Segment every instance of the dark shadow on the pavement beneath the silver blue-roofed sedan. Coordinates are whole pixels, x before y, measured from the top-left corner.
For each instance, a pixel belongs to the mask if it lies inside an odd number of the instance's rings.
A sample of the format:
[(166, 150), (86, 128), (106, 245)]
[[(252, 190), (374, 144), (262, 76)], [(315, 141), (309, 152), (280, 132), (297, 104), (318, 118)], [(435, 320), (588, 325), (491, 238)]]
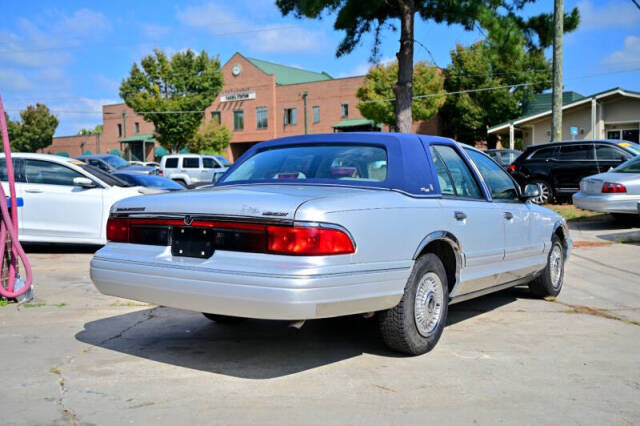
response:
[[(516, 300), (497, 293), (452, 305), (448, 325)], [(446, 332), (446, 331), (445, 331)], [(361, 316), (307, 321), (246, 320), (217, 324), (199, 313), (167, 307), (88, 322), (76, 339), (90, 345), (179, 367), (247, 379), (286, 376), (359, 356), (400, 357), (380, 338), (377, 321)]]

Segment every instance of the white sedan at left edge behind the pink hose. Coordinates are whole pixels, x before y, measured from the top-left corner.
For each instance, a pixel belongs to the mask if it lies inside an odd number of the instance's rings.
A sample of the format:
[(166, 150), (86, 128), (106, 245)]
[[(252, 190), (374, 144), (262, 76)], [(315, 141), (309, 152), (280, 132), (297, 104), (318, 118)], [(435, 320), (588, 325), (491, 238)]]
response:
[[(113, 203), (148, 192), (67, 157), (15, 153), (12, 159), (16, 193), (24, 199), (18, 210), (20, 241), (104, 244)], [(0, 180), (8, 193), (4, 154)]]

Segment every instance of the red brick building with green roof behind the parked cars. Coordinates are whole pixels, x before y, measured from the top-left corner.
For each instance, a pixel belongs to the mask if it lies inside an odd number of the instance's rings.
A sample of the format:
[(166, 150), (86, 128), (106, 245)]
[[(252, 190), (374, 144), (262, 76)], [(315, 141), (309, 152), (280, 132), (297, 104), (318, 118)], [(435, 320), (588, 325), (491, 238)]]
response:
[[(238, 158), (252, 145), (281, 136), (334, 131), (378, 130), (357, 109), (356, 90), (364, 76), (333, 78), (274, 64), (235, 53), (222, 66), (224, 87), (205, 110), (205, 120), (219, 120), (233, 131), (227, 158)], [(154, 126), (124, 103), (102, 107), (104, 133), (97, 144), (85, 147), (92, 152), (122, 152), (128, 159), (150, 161), (158, 154), (153, 139)], [(438, 134), (437, 116), (414, 125), (417, 133)], [(63, 140), (54, 138), (47, 152), (61, 151)], [(97, 141), (96, 141), (97, 142)], [(78, 145), (79, 140), (73, 140)], [(66, 148), (70, 155), (75, 149)], [(79, 152), (78, 152), (79, 154)]]

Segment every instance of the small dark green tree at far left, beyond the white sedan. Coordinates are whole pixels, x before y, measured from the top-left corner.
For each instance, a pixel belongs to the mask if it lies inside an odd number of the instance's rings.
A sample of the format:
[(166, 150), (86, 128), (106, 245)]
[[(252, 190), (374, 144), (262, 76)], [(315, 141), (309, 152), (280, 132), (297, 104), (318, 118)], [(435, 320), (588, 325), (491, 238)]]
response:
[(36, 152), (53, 142), (58, 119), (44, 104), (29, 105), (20, 111), (20, 121), (9, 120), (7, 130), (11, 149), (18, 152)]

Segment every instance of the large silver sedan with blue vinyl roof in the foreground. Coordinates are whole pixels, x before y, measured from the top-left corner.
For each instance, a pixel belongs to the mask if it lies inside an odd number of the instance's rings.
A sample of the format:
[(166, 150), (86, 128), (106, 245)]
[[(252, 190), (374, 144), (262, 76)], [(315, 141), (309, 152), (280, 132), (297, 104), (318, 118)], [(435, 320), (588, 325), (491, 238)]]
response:
[(518, 284), (560, 292), (571, 239), (527, 202), (537, 195), (451, 139), (276, 139), (215, 187), (117, 203), (91, 277), (104, 294), (219, 322), (377, 312), (389, 347), (420, 354), (450, 303)]

